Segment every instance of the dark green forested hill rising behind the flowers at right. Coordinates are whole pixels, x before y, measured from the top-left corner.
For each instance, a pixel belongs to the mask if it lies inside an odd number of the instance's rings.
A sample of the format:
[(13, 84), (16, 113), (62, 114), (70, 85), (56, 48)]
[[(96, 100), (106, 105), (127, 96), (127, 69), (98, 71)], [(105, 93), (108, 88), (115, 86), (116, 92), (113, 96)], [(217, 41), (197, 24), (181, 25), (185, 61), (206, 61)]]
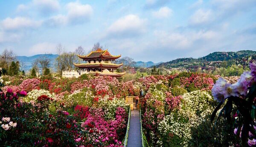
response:
[(228, 68), (232, 65), (245, 68), (250, 61), (256, 61), (256, 51), (242, 50), (239, 52), (213, 52), (202, 58), (178, 58), (173, 61), (161, 63), (157, 67), (166, 69), (182, 68), (192, 71), (215, 70), (217, 68)]

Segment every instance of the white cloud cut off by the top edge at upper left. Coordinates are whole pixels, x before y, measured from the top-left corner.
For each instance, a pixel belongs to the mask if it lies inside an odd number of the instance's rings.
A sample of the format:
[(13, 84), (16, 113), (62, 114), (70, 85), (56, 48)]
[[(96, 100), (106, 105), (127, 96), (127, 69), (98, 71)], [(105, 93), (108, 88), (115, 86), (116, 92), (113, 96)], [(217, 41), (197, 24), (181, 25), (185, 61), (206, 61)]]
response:
[(32, 5), (36, 6), (43, 14), (56, 12), (61, 7), (58, 0), (33, 0)]

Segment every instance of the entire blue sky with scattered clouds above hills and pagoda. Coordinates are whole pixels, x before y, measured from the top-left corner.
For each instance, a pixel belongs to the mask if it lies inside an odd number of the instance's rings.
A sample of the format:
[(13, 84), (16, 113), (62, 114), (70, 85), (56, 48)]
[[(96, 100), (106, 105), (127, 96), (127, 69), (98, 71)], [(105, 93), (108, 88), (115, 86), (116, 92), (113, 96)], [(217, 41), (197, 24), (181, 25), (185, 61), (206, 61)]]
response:
[(1, 0), (0, 52), (55, 53), (100, 42), (135, 61), (256, 50), (256, 0)]

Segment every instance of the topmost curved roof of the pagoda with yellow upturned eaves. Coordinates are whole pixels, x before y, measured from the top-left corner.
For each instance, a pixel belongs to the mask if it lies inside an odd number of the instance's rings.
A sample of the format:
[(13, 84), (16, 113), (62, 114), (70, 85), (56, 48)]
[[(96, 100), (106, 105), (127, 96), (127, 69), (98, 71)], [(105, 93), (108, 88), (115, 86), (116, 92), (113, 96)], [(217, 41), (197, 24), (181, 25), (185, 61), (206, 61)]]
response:
[(87, 60), (93, 60), (93, 59), (111, 59), (111, 60), (115, 60), (119, 57), (121, 57), (121, 55), (111, 55), (108, 50), (102, 50), (102, 49), (98, 49), (97, 51), (92, 51), (90, 52), (88, 55), (82, 56), (82, 55), (78, 55), (79, 58), (84, 59), (84, 61)]

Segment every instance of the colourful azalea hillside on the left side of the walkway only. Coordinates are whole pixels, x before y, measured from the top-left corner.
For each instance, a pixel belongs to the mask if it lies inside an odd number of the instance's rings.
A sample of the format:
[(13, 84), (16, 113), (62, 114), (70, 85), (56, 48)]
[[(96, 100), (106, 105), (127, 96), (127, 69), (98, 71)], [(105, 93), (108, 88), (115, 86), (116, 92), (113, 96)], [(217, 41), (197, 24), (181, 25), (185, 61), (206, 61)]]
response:
[(122, 147), (129, 86), (112, 77), (2, 76), (0, 146)]

